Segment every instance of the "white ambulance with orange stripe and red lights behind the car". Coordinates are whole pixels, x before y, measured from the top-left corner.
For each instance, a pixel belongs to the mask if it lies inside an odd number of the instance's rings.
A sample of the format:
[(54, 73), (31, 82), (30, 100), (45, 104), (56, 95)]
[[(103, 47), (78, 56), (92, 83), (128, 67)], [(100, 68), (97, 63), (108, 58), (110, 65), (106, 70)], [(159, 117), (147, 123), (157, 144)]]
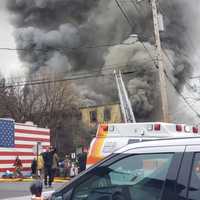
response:
[(86, 167), (104, 159), (127, 144), (162, 138), (200, 136), (196, 126), (163, 122), (100, 124), (93, 138)]

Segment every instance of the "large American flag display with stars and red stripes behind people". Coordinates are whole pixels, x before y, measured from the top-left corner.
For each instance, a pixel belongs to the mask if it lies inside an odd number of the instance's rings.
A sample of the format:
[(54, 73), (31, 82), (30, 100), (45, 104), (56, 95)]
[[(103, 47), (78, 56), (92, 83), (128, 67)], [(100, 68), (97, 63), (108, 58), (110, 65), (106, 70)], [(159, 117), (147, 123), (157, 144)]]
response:
[(14, 171), (16, 156), (22, 161), (23, 171), (29, 172), (36, 157), (34, 149), (37, 143), (41, 143), (43, 150), (50, 146), (49, 129), (0, 119), (0, 173)]

